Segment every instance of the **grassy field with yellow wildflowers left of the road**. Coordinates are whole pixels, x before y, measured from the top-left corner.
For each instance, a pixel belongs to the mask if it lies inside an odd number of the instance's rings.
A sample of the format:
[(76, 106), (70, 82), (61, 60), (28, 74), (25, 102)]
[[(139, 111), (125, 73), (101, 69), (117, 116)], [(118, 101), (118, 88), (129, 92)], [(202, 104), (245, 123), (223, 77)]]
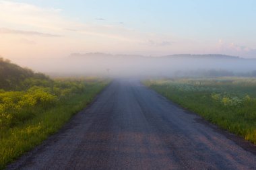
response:
[(26, 79), (21, 90), (0, 90), (0, 169), (57, 132), (108, 82)]

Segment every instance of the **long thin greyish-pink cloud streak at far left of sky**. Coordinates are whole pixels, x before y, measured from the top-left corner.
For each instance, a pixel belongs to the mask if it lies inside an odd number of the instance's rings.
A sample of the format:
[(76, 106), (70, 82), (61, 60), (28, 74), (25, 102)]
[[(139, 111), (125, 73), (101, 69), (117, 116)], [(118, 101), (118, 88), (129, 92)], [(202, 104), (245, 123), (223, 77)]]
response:
[(0, 34), (21, 34), (26, 36), (60, 37), (60, 35), (57, 35), (57, 34), (46, 34), (42, 32), (23, 31), (23, 30), (11, 30), (8, 28), (0, 28)]

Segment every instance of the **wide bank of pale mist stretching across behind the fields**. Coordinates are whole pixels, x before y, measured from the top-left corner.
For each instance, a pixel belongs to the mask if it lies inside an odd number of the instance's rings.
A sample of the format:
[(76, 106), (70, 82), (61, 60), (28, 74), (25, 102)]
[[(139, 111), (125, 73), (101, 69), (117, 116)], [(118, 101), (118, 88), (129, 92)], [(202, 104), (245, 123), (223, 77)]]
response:
[(256, 59), (254, 58), (241, 58), (221, 54), (139, 56), (104, 53), (73, 53), (65, 58), (22, 60), (20, 64), (52, 76), (255, 76), (256, 70)]

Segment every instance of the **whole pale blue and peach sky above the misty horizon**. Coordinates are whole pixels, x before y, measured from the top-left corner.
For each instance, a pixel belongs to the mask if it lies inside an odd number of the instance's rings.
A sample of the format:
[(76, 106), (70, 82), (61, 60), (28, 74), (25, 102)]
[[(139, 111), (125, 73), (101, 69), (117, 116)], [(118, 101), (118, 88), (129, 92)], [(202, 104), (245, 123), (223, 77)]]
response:
[(0, 55), (228, 54), (256, 58), (255, 0), (0, 0)]

